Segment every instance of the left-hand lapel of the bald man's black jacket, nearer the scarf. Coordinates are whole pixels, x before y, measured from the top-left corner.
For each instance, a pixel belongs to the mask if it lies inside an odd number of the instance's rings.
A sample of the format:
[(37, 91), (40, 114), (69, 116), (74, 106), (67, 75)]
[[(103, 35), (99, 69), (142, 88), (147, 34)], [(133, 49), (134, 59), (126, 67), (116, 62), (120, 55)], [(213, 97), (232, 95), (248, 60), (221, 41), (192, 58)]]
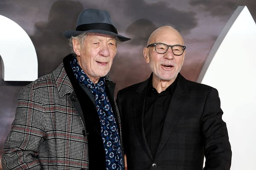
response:
[(149, 158), (153, 160), (152, 153), (146, 140), (145, 131), (143, 127), (143, 115), (145, 106), (145, 96), (147, 92), (148, 79), (143, 82), (136, 90), (137, 96), (134, 97), (133, 108), (134, 108), (134, 126), (137, 133), (137, 137), (140, 141), (141, 146), (148, 154)]

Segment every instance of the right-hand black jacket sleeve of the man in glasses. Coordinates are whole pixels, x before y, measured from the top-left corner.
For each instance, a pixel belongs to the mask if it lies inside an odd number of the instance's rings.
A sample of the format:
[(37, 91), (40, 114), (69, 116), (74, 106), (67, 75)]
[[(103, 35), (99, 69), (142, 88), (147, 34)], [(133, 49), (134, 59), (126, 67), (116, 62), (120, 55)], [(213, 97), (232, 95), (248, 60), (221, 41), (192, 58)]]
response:
[(222, 114), (218, 91), (212, 88), (201, 118), (206, 158), (204, 170), (230, 170), (232, 152)]

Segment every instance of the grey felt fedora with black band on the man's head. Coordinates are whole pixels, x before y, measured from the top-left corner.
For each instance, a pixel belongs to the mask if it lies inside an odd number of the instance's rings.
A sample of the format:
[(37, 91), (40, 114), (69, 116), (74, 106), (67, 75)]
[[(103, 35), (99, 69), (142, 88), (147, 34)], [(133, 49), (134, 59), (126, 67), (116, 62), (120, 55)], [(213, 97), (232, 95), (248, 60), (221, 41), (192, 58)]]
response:
[(130, 38), (119, 35), (108, 11), (102, 11), (100, 9), (90, 8), (83, 10), (78, 16), (76, 30), (64, 31), (63, 35), (66, 38), (70, 38), (71, 36), (76, 36), (84, 32), (113, 35), (118, 37), (120, 41), (131, 40)]

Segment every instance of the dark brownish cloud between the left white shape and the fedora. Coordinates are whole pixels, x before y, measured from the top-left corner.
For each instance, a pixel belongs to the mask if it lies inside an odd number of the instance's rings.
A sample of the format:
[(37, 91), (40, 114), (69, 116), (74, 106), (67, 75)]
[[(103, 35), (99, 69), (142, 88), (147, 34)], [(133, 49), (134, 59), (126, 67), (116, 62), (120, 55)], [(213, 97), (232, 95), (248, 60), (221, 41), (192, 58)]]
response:
[(58, 0), (53, 3), (48, 21), (35, 23), (35, 34), (30, 36), (38, 56), (38, 75), (53, 71), (70, 53), (68, 40), (63, 31), (74, 30), (83, 6), (80, 2)]

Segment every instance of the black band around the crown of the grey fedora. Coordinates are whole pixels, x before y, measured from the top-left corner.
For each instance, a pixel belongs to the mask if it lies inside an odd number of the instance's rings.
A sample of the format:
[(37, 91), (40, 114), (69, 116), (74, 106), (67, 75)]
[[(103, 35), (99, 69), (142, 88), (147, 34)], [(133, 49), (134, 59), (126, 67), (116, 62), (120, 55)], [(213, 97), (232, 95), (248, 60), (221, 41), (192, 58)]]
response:
[(111, 31), (111, 32), (117, 34), (116, 28), (113, 25), (107, 24), (107, 23), (82, 24), (82, 25), (76, 27), (76, 31), (89, 31), (89, 30), (94, 30), (94, 29)]

